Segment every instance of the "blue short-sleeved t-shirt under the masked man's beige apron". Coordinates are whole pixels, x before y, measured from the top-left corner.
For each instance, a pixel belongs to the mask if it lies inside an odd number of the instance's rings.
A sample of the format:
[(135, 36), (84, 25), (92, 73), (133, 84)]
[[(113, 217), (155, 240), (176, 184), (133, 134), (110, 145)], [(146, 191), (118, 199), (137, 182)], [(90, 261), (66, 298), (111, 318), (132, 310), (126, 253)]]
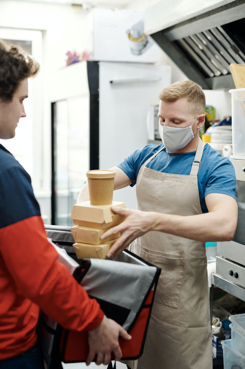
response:
[[(143, 149), (134, 151), (118, 165), (118, 168), (122, 169), (131, 180), (131, 186), (136, 184), (137, 175), (143, 163), (162, 147), (162, 143), (160, 145), (146, 145)], [(147, 168), (164, 173), (190, 175), (195, 153), (192, 151), (179, 154), (163, 149), (147, 164)], [(197, 182), (203, 213), (208, 212), (205, 196), (209, 193), (223, 193), (236, 200), (235, 169), (228, 158), (222, 157), (208, 144), (204, 145)]]

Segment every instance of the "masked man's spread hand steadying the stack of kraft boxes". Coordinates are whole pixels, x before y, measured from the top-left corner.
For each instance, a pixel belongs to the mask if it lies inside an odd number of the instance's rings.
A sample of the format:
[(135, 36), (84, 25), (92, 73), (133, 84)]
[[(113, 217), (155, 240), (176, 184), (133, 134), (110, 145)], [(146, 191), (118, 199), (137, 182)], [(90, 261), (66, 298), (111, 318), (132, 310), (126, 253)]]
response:
[(156, 213), (135, 209), (124, 209), (119, 206), (112, 206), (111, 210), (113, 213), (124, 215), (125, 220), (115, 227), (110, 228), (101, 236), (101, 239), (104, 239), (116, 234), (117, 232), (120, 232), (121, 234), (115, 244), (113, 244), (109, 249), (107, 253), (108, 258), (115, 257), (120, 254), (120, 252), (125, 250), (134, 239), (152, 230), (156, 223)]

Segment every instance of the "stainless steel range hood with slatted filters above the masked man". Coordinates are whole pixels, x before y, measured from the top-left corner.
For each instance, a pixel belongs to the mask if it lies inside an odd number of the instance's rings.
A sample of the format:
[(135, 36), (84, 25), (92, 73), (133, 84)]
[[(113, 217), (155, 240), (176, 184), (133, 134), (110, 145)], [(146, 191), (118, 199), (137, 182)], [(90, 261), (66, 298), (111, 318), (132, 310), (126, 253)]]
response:
[(245, 64), (245, 0), (160, 1), (145, 33), (204, 89), (235, 88), (229, 64)]

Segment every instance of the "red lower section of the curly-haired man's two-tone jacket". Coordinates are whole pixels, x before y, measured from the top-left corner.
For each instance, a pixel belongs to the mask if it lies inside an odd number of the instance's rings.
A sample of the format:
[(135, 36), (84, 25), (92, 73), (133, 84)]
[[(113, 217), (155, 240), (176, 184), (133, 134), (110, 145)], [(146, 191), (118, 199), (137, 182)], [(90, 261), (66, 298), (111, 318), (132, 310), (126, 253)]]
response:
[(37, 341), (39, 307), (65, 328), (93, 330), (103, 312), (57, 261), (41, 217), (0, 229), (0, 360)]

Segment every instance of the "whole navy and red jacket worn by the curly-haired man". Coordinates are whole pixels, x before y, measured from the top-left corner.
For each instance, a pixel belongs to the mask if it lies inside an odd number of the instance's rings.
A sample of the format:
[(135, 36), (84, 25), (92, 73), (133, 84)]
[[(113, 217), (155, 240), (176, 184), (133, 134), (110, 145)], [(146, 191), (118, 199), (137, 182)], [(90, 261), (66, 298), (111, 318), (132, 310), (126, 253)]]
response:
[(0, 144), (0, 361), (35, 344), (39, 308), (73, 330), (101, 323), (97, 301), (57, 258), (30, 176)]

